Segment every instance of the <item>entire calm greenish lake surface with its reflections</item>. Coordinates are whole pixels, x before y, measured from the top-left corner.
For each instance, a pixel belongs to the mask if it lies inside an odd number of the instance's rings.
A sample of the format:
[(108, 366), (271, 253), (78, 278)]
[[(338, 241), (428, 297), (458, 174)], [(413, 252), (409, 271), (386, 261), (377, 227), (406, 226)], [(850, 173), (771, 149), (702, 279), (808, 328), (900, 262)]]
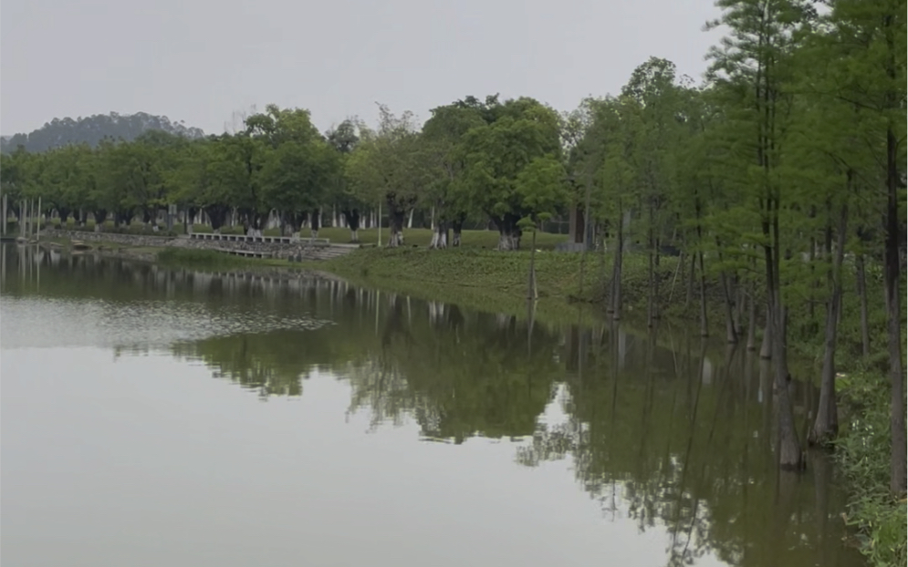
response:
[(861, 565), (724, 345), (2, 253), (5, 566)]

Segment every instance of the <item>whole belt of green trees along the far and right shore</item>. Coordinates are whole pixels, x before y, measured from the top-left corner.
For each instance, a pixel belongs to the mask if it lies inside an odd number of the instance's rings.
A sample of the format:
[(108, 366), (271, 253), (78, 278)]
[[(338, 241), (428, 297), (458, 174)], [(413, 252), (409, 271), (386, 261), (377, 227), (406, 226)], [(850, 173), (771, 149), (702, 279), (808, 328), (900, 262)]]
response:
[[(611, 251), (609, 311), (621, 314), (624, 252), (647, 258), (647, 317), (660, 315), (660, 254), (682, 253), (704, 288), (715, 274), (729, 342), (757, 336), (772, 359), (779, 459), (803, 451), (788, 390), (793, 309), (825, 320), (821, 397), (809, 441), (838, 430), (835, 353), (845, 270), (858, 273), (865, 354), (867, 294), (882, 268), (892, 389), (892, 490), (905, 491), (902, 360), (905, 242), (904, 0), (719, 0), (707, 29), (727, 30), (706, 55), (702, 84), (651, 58), (615, 96), (558, 112), (534, 98), (465, 97), (422, 125), (381, 106), (371, 127), (348, 119), (324, 134), (307, 110), (269, 106), (235, 133), (187, 139), (150, 131), (2, 157), (13, 211), (41, 198), (44, 213), (85, 222), (157, 219), (176, 205), (219, 230), (261, 232), (277, 213), (283, 233), (319, 211), (341, 211), (357, 240), (365, 211), (381, 210), (389, 246), (412, 211), (433, 220), (432, 248), (456, 246), (467, 219), (485, 219), (500, 250), (568, 207), (583, 211), (584, 240)], [(451, 237), (453, 232), (453, 238)], [(689, 264), (688, 264), (689, 263)], [(746, 321), (746, 326), (745, 326)], [(757, 345), (748, 345), (757, 348)]]

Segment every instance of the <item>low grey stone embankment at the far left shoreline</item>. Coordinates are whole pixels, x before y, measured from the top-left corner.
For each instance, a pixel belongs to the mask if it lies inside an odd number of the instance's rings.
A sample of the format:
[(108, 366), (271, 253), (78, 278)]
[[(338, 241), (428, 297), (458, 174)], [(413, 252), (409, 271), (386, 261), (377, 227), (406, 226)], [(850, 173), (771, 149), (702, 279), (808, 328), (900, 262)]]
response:
[[(325, 239), (254, 239), (251, 237), (236, 237), (235, 240), (208, 240), (203, 238), (190, 238), (189, 236), (153, 236), (149, 234), (118, 234), (113, 232), (82, 232), (47, 230), (42, 236), (48, 238), (61, 238), (70, 241), (82, 242), (111, 242), (134, 248), (193, 248), (197, 250), (214, 250), (222, 253), (235, 253), (239, 255), (280, 258), (291, 262), (311, 260), (329, 260), (351, 253), (359, 245), (334, 244)], [(270, 240), (271, 242), (259, 242)]]

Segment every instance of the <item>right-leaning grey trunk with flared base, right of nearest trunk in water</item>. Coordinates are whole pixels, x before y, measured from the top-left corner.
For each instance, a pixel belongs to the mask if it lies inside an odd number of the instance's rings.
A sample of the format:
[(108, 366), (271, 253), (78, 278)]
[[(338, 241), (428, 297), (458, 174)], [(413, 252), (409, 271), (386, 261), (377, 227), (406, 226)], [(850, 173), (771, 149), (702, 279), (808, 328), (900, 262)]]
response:
[(817, 419), (808, 435), (810, 445), (825, 445), (839, 434), (839, 409), (836, 407), (836, 338), (839, 331), (841, 309), (841, 262), (845, 254), (848, 228), (848, 206), (842, 205), (839, 234), (836, 238), (835, 259), (828, 278), (832, 293), (826, 309), (826, 341), (823, 352), (823, 369), (820, 375), (819, 406)]

